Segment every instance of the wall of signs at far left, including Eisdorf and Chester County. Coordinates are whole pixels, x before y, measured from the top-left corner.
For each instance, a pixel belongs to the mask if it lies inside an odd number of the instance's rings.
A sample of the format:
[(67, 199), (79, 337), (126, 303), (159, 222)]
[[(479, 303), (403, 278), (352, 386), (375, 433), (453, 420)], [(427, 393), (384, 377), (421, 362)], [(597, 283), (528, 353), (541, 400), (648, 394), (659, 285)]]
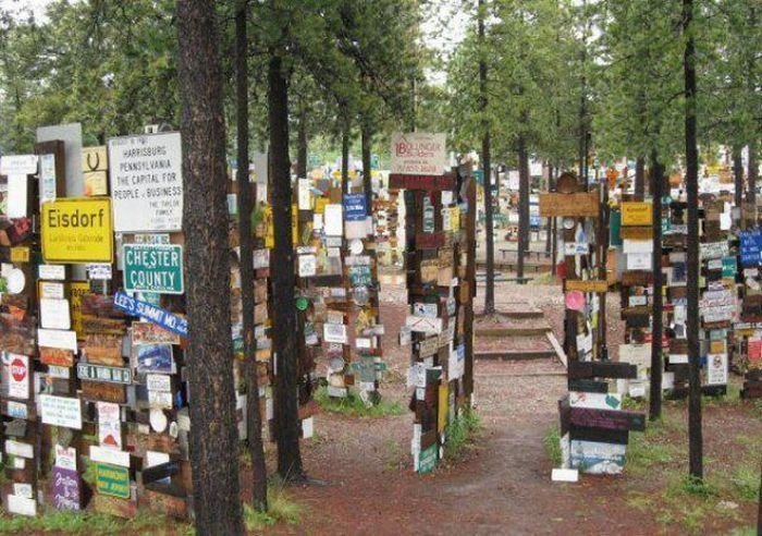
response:
[(184, 517), (187, 322), (172, 300), (184, 292), (180, 134), (84, 149), (77, 198), (64, 195), (66, 151), (53, 142), (0, 159), (1, 413), (13, 483), (2, 499), (27, 515), (91, 500), (123, 516), (143, 501)]

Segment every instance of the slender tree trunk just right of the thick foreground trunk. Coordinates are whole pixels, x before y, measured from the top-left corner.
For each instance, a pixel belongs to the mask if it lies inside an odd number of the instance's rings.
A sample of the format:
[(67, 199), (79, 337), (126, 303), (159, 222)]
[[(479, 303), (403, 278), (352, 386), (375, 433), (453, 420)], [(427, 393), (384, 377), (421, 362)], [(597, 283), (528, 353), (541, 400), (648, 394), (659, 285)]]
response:
[(248, 179), (248, 35), (246, 32), (246, 2), (235, 14), (235, 72), (237, 101), (238, 148), (238, 235), (241, 237), (241, 305), (243, 310), (244, 375), (246, 377), (246, 436), (254, 477), (254, 508), (267, 511), (267, 467), (262, 446), (262, 419), (259, 413), (256, 341), (254, 338), (254, 244), (251, 210), (254, 199)]

